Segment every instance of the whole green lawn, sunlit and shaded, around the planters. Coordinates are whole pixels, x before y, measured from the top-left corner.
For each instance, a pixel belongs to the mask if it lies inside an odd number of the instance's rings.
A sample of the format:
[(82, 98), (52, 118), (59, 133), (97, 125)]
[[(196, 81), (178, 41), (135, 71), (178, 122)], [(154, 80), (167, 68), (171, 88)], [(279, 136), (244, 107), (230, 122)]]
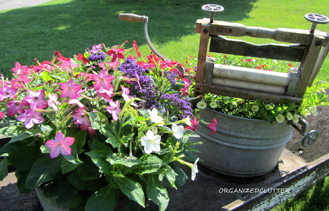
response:
[[(200, 9), (204, 4), (225, 7), (215, 20), (268, 28), (309, 29), (311, 24), (304, 20), (304, 14), (329, 16), (327, 0), (53, 0), (41, 6), (0, 11), (0, 73), (10, 77), (16, 61), (32, 65), (33, 58), (50, 60), (55, 49), (72, 57), (99, 43), (112, 46), (136, 40), (141, 52), (149, 54), (143, 24), (119, 20), (122, 12), (149, 16), (154, 46), (164, 56), (185, 62), (189, 55), (197, 55), (199, 34), (195, 33), (195, 21), (208, 17)], [(329, 32), (329, 24), (318, 25), (317, 29)], [(318, 79), (329, 81), (329, 57)], [(329, 210), (328, 195), (327, 177), (275, 210)]]

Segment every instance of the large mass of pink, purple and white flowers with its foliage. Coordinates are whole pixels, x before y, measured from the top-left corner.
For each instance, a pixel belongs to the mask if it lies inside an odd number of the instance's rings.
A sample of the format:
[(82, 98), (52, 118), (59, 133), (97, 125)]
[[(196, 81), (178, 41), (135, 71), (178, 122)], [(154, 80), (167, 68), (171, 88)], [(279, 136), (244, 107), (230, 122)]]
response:
[(55, 51), (2, 77), (0, 134), (11, 140), (0, 148), (1, 180), (13, 165), (20, 192), (36, 189), (45, 207), (50, 198), (56, 209), (85, 210), (113, 210), (119, 194), (129, 206), (151, 199), (164, 210), (163, 185), (188, 178), (177, 164), (194, 180), (198, 158), (187, 140), (198, 135), (181, 64), (152, 53), (145, 60), (135, 41), (125, 44), (72, 58)]

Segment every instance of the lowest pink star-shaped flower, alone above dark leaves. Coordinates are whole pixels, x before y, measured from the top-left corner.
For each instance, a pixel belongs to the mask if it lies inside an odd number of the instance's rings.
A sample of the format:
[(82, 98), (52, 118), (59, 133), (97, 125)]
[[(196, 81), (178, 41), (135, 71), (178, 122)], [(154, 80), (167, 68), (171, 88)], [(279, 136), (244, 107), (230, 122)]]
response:
[(45, 145), (50, 149), (50, 158), (57, 157), (60, 153), (62, 155), (71, 154), (71, 146), (75, 141), (74, 137), (64, 137), (61, 131), (58, 131), (54, 139), (47, 140)]

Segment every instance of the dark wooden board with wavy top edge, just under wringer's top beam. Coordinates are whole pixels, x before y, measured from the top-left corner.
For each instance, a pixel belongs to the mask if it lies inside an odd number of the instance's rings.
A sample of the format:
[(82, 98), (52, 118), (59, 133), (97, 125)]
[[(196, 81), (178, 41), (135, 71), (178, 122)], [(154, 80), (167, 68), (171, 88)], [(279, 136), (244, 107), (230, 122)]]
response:
[(301, 62), (305, 54), (305, 45), (264, 44), (257, 45), (243, 40), (211, 37), (211, 52), (250, 56), (266, 59), (278, 59)]

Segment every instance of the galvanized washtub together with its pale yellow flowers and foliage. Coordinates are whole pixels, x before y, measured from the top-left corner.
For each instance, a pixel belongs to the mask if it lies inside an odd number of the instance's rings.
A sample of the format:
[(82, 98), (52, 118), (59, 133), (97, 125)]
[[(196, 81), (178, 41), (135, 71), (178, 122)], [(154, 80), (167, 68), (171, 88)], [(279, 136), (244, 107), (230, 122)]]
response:
[[(287, 72), (293, 66), (269, 59), (221, 54), (209, 56), (216, 59), (215, 63), (260, 71)], [(191, 57), (188, 65), (193, 75), (196, 59)], [(206, 121), (215, 117), (218, 124), (213, 136), (207, 134), (209, 129), (203, 124), (193, 128), (202, 137), (203, 145), (196, 146), (202, 152), (198, 156), (205, 161), (202, 165), (235, 177), (254, 177), (269, 172), (277, 166), (293, 133), (291, 125), (297, 124), (303, 116), (317, 115), (318, 106), (329, 105), (325, 94), (328, 88), (328, 83), (316, 81), (306, 90), (300, 106), (293, 102), (273, 104), (204, 93), (196, 104), (200, 109), (198, 115)], [(192, 143), (198, 140), (190, 139)]]

